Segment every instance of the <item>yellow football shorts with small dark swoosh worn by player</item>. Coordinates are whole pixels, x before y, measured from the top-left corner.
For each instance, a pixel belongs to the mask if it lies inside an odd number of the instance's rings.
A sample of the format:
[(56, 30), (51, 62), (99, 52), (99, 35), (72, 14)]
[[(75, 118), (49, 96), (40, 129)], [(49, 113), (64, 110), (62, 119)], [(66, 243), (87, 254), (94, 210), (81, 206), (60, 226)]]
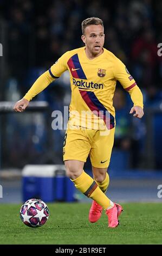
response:
[(115, 127), (107, 132), (90, 130), (81, 126), (71, 126), (64, 136), (63, 161), (87, 161), (88, 155), (93, 167), (107, 168), (114, 144)]

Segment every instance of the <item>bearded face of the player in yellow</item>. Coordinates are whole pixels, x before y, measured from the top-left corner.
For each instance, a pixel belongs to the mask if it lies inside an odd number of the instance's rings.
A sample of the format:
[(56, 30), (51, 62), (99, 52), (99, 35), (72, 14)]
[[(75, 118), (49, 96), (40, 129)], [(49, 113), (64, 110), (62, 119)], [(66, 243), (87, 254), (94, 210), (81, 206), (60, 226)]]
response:
[(86, 44), (86, 50), (92, 56), (99, 56), (103, 52), (103, 44), (105, 34), (101, 25), (89, 25), (85, 28), (85, 35), (82, 35), (82, 40)]

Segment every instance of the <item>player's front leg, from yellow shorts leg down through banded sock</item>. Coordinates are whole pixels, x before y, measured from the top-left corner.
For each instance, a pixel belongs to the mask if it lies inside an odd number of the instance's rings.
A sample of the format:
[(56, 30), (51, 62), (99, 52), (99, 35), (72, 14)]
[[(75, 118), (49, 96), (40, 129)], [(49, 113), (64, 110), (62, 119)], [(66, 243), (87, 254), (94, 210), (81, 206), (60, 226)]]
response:
[[(64, 141), (63, 160), (67, 169), (67, 174), (74, 182), (75, 187), (85, 194), (85, 196), (95, 200), (103, 209), (109, 210), (113, 208), (114, 204), (100, 190), (94, 179), (82, 169), (83, 162), (86, 162), (92, 145), (91, 138), (94, 137), (95, 133), (95, 130), (68, 130)], [(109, 227), (114, 228), (117, 225), (118, 219), (112, 218)]]

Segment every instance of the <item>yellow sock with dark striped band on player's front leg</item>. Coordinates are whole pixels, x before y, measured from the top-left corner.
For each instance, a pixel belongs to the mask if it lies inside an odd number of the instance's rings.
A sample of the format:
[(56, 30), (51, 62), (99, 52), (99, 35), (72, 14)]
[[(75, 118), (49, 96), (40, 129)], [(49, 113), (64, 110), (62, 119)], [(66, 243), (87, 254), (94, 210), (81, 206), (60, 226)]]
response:
[(82, 174), (75, 180), (72, 180), (75, 187), (80, 190), (85, 196), (92, 198), (103, 209), (107, 209), (110, 204), (110, 199), (100, 190), (96, 182), (83, 170)]

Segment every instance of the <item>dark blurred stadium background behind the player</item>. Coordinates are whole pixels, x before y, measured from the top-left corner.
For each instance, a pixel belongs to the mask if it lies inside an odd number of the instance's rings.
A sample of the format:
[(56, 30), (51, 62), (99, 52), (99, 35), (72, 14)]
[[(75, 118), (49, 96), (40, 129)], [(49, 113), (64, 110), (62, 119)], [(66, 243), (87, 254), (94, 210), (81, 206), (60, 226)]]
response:
[[(83, 46), (81, 22), (100, 17), (105, 48), (124, 62), (144, 95), (142, 120), (129, 115), (129, 94), (116, 86), (116, 133), (109, 197), (161, 202), (162, 184), (162, 2), (0, 0), (0, 203), (21, 203), (27, 164), (63, 164), (64, 130), (53, 130), (51, 113), (70, 102), (68, 72), (37, 95), (24, 113), (12, 107), (36, 78), (66, 51)], [(89, 160), (85, 170), (91, 172)], [(76, 193), (76, 192), (75, 192)], [(75, 194), (77, 200), (86, 200)]]

